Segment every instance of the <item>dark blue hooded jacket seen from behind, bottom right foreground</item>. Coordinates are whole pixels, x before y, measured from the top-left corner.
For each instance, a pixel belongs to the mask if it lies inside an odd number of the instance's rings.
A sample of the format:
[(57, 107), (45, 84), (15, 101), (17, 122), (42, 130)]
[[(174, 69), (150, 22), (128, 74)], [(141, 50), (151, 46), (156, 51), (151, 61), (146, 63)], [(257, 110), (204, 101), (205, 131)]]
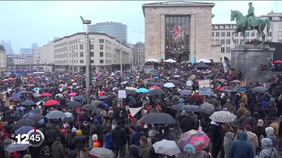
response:
[(254, 158), (253, 146), (247, 139), (247, 133), (241, 132), (239, 140), (235, 140), (231, 144), (229, 150), (230, 158)]

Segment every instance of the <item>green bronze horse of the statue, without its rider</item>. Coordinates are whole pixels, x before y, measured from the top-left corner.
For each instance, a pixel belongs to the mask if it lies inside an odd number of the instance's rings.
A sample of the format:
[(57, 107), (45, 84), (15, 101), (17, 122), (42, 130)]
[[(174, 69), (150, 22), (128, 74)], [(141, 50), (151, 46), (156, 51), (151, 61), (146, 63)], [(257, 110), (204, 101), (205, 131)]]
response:
[[(245, 30), (247, 28), (247, 18), (243, 16), (243, 14), (239, 11), (232, 11), (231, 10), (231, 17), (230, 20), (234, 21), (236, 18), (236, 30), (232, 32), (232, 41), (235, 43), (234, 40), (234, 33), (242, 32), (244, 36), (244, 42), (241, 43), (241, 45), (244, 45), (246, 42), (246, 33)], [(258, 25), (252, 27), (253, 29), (256, 29), (259, 32), (259, 36), (254, 39), (254, 41), (257, 41), (260, 37), (262, 37), (262, 42), (260, 45), (263, 45), (265, 42), (265, 34), (263, 33), (263, 30), (265, 26), (267, 25), (267, 32), (269, 32), (270, 28), (270, 20), (269, 19), (263, 19), (263, 18), (257, 18)]]

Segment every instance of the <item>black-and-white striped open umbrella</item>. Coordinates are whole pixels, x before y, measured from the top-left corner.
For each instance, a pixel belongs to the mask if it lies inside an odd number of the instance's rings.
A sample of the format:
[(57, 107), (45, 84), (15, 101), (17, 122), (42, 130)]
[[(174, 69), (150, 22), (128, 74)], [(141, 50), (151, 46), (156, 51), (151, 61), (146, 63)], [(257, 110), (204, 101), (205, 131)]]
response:
[(209, 118), (214, 122), (233, 122), (236, 119), (236, 115), (229, 111), (216, 111)]

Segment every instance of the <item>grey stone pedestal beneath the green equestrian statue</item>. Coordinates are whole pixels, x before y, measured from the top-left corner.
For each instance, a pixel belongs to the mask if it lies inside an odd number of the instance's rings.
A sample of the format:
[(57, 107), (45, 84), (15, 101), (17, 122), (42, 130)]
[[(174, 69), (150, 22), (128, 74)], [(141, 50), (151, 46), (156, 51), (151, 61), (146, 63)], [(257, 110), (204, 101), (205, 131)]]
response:
[(240, 72), (240, 69), (244, 69), (242, 77), (246, 79), (246, 83), (256, 83), (261, 81), (265, 83), (266, 80), (261, 76), (260, 68), (261, 63), (267, 65), (266, 69), (269, 70), (269, 59), (273, 58), (273, 51), (275, 48), (271, 48), (268, 45), (235, 45), (231, 51), (231, 68), (235, 68), (236, 74)]

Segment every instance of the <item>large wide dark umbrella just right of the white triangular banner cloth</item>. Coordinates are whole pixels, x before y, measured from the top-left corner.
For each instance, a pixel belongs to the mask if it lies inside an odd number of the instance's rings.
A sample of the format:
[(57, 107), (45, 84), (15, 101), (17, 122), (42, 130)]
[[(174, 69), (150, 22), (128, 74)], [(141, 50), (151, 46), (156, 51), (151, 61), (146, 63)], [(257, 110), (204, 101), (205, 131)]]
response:
[(172, 124), (177, 123), (175, 119), (166, 113), (150, 113), (143, 116), (140, 119), (142, 123), (149, 123), (149, 124)]

